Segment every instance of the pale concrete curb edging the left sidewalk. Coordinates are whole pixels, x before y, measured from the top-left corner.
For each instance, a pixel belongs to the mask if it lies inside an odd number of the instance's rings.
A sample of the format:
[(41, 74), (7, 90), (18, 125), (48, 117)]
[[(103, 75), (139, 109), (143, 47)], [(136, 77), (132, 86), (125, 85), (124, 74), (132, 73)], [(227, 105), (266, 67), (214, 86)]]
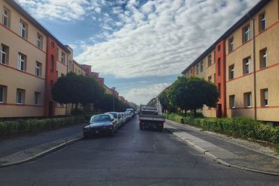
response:
[(20, 161), (8, 163), (8, 164), (0, 164), (0, 168), (7, 167), (7, 166), (13, 166), (13, 165), (16, 165), (16, 164), (23, 164), (23, 163), (26, 163), (26, 162), (31, 162), (33, 160), (37, 160), (38, 158), (43, 157), (45, 155), (48, 155), (50, 153), (53, 153), (54, 151), (59, 150), (59, 149), (65, 147), (65, 146), (68, 146), (70, 144), (74, 144), (75, 142), (80, 141), (80, 139), (82, 139), (82, 137), (77, 137), (75, 139), (70, 139), (69, 141), (66, 141), (63, 144), (59, 144), (58, 146), (54, 146), (50, 149), (47, 149), (47, 150), (45, 150), (41, 153), (33, 155), (33, 156), (31, 156), (27, 159), (24, 159), (24, 160), (20, 160)]

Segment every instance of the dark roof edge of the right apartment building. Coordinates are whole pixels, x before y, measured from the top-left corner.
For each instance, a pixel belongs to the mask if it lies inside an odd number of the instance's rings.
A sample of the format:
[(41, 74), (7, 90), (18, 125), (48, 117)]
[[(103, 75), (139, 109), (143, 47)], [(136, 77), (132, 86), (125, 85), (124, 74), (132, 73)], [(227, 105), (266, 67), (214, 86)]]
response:
[(220, 36), (220, 38), (218, 38), (218, 40), (216, 40), (216, 42), (213, 43), (213, 45), (211, 45), (208, 49), (206, 49), (206, 51), (204, 53), (202, 53), (193, 63), (191, 63), (185, 70), (183, 70), (183, 72), (181, 72), (183, 75), (190, 70), (190, 68), (192, 68), (193, 66), (195, 66), (197, 63), (199, 63), (199, 61), (201, 61), (202, 59), (204, 59), (204, 57), (206, 55), (208, 55), (211, 51), (213, 51), (213, 49), (215, 48), (216, 45), (218, 45), (218, 43), (221, 40), (224, 40), (225, 38), (229, 37), (234, 31), (236, 31), (236, 29), (239, 29), (239, 27), (247, 22), (248, 20), (251, 19), (251, 17), (253, 15), (255, 15), (255, 13), (257, 13), (264, 5), (266, 5), (266, 3), (269, 3), (269, 1), (271, 0), (261, 0), (259, 1), (259, 3), (257, 3), (253, 8), (251, 8), (248, 13), (246, 13), (246, 15), (244, 15), (243, 17), (241, 17), (241, 19), (239, 21), (237, 21), (234, 25), (232, 25), (222, 36)]

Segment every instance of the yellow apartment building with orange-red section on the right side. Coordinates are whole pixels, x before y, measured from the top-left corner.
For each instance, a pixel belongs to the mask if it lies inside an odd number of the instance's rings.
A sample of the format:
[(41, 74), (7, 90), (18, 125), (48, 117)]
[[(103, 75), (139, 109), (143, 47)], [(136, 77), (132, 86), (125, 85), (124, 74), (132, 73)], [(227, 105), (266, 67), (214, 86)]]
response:
[(279, 1), (262, 0), (186, 70), (218, 87), (216, 109), (205, 116), (279, 122)]

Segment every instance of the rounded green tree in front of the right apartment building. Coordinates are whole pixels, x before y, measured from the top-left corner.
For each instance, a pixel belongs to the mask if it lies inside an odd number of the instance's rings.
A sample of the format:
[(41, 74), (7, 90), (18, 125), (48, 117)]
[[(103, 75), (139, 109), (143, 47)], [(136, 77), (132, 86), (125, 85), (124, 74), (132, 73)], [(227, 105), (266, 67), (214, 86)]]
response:
[(172, 104), (186, 111), (196, 110), (204, 106), (216, 107), (219, 93), (216, 85), (198, 77), (178, 77), (168, 91)]

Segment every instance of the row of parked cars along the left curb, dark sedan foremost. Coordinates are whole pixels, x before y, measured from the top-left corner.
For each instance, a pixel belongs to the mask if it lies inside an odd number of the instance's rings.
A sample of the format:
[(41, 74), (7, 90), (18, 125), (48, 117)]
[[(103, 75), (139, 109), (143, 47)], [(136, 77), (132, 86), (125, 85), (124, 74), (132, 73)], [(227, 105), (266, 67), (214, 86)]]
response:
[(89, 138), (94, 134), (114, 135), (125, 123), (128, 123), (137, 112), (133, 109), (127, 109), (125, 112), (110, 111), (105, 114), (97, 114), (86, 121), (83, 128), (83, 137)]

